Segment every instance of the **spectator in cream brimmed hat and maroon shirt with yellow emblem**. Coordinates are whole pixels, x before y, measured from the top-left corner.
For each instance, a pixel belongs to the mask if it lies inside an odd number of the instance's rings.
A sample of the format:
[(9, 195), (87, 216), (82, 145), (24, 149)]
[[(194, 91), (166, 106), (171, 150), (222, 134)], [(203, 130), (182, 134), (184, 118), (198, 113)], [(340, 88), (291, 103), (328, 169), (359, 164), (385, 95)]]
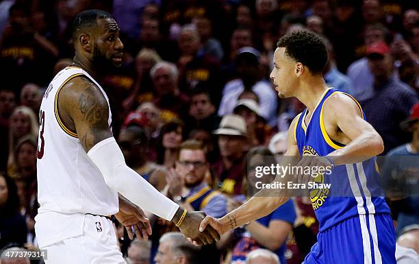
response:
[(225, 115), (214, 131), (218, 135), (220, 158), (213, 165), (216, 185), (228, 195), (242, 194), (243, 160), (246, 147), (246, 121), (238, 115)]

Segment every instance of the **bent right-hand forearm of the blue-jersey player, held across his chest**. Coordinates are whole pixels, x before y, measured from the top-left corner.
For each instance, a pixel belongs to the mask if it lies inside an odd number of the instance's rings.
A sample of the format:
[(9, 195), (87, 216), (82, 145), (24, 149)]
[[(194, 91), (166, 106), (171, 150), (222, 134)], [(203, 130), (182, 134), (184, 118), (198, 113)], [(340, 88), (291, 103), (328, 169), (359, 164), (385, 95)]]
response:
[(336, 149), (329, 155), (335, 166), (359, 163), (383, 152), (383, 140), (377, 132), (361, 134), (342, 149)]

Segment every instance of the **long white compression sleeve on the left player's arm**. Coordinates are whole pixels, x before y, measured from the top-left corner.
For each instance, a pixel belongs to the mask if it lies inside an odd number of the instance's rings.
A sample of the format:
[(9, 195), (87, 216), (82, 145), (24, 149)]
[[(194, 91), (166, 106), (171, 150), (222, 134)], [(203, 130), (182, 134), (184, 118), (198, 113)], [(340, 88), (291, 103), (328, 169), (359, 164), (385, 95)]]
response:
[(114, 137), (94, 145), (88, 156), (101, 171), (107, 186), (150, 213), (168, 221), (173, 218), (179, 205), (162, 195), (125, 164), (123, 153)]

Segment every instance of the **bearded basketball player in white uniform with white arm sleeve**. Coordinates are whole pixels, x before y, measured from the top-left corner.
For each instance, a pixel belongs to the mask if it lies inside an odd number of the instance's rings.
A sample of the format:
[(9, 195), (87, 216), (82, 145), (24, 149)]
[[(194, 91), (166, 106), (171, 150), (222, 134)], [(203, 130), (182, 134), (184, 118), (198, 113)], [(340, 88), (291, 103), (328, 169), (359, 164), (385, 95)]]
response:
[(179, 208), (125, 164), (107, 95), (96, 81), (122, 62), (116, 21), (107, 12), (81, 12), (73, 42), (73, 65), (55, 75), (40, 106), (35, 230), (45, 262), (125, 263), (107, 216), (116, 214), (127, 230), (147, 238), (151, 228), (140, 208), (173, 221), (201, 244), (218, 239), (214, 230), (200, 234), (201, 213)]

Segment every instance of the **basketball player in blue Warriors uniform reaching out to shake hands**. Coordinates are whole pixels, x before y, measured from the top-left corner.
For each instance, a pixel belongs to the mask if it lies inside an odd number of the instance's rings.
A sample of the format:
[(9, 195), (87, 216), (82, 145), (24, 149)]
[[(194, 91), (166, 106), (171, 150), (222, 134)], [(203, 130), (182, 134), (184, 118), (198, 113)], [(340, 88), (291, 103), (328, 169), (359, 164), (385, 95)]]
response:
[[(325, 84), (322, 71), (327, 51), (319, 36), (307, 31), (286, 34), (277, 43), (274, 62), (270, 77), (279, 97), (296, 97), (307, 106), (290, 125), (287, 158), (280, 165), (295, 164), (291, 157), (296, 156), (299, 167), (331, 169), (329, 175), (314, 179), (331, 183), (330, 189), (310, 191), (320, 232), (303, 263), (395, 264), (390, 210), (383, 197), (374, 197), (379, 182), (374, 156), (383, 152), (381, 137), (353, 97)], [(292, 177), (277, 176), (276, 182), (286, 187)], [(268, 215), (293, 192), (279, 189), (272, 197), (271, 190), (262, 189), (225, 217), (206, 217), (200, 230), (212, 226), (223, 234)]]

